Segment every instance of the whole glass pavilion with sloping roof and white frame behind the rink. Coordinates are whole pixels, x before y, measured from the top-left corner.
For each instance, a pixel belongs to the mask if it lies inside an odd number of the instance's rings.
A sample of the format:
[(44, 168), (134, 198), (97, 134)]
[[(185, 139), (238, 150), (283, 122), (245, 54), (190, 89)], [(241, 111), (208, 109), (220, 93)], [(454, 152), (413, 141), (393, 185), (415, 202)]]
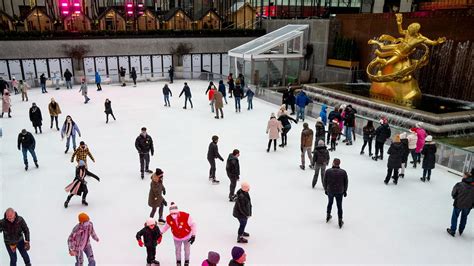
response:
[(229, 72), (246, 84), (280, 87), (298, 81), (308, 25), (287, 25), (228, 52)]

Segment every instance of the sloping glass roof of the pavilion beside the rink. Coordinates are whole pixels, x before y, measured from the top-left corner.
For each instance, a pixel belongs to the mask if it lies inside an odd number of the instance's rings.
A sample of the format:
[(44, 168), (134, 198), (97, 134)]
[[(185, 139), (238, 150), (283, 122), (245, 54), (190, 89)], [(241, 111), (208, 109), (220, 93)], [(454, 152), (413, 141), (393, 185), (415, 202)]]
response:
[(236, 47), (230, 50), (229, 53), (241, 54), (242, 57), (244, 55), (258, 55), (281, 43), (285, 43), (300, 36), (303, 34), (303, 30), (308, 27), (308, 25), (286, 25), (285, 27), (279, 28), (253, 41)]

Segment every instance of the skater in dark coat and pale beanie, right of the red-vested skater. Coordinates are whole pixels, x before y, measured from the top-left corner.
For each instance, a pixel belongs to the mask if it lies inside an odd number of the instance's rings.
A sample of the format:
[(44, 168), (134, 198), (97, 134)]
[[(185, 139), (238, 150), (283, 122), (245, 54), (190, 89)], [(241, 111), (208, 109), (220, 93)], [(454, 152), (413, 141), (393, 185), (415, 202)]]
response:
[(248, 219), (252, 216), (252, 202), (250, 200), (250, 185), (242, 182), (237, 197), (235, 199), (233, 216), (239, 220), (239, 230), (237, 231), (237, 243), (248, 243), (246, 237), (250, 234), (245, 232)]

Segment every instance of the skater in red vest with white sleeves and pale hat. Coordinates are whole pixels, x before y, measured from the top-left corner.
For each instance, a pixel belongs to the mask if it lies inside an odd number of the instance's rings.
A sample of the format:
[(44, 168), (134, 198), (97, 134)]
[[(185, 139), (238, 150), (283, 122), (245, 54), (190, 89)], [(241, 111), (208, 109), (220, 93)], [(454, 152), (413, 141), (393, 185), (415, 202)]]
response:
[(181, 247), (184, 246), (184, 266), (189, 266), (191, 245), (196, 240), (196, 224), (188, 213), (179, 211), (174, 202), (171, 202), (170, 215), (166, 217), (161, 233), (166, 233), (169, 228), (174, 238), (176, 265), (181, 266)]

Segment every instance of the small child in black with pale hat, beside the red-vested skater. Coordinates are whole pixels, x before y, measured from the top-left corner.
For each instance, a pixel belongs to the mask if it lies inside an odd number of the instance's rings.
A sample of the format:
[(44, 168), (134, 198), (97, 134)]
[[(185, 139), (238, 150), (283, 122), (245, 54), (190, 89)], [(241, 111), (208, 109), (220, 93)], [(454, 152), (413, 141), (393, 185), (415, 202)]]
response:
[[(161, 243), (161, 232), (160, 228), (156, 224), (153, 218), (148, 218), (145, 222), (145, 227), (137, 232), (135, 236), (138, 241), (138, 246), (146, 248), (146, 263), (147, 265), (155, 264), (159, 266), (160, 262), (155, 258), (156, 246)], [(143, 240), (142, 240), (143, 237)]]

